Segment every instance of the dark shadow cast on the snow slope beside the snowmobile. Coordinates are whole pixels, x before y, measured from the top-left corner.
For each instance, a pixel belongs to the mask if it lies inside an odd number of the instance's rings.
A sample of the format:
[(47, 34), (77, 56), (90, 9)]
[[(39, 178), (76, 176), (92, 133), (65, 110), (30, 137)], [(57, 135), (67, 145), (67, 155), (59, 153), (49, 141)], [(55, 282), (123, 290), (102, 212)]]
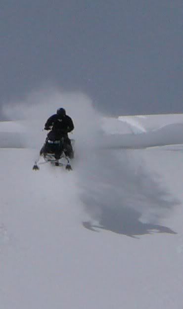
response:
[(123, 151), (119, 160), (119, 155), (105, 152), (105, 157), (97, 154), (90, 164), (91, 173), (88, 168), (81, 175), (84, 189), (81, 199), (91, 217), (83, 222), (85, 228), (130, 237), (176, 234), (158, 223), (179, 201), (171, 196), (160, 176), (149, 171), (141, 156)]

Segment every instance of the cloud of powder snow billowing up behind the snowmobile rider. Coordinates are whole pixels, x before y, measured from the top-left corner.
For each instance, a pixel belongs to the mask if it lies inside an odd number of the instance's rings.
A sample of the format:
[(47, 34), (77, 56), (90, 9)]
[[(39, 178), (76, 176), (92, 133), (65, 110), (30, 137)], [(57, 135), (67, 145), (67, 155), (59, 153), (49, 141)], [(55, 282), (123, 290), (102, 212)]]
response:
[(74, 120), (76, 130), (70, 138), (76, 138), (78, 144), (92, 143), (98, 118), (91, 99), (81, 92), (60, 92), (55, 88), (34, 91), (24, 100), (4, 106), (3, 114), (9, 120), (20, 121), (26, 134), (25, 147), (39, 149), (46, 138), (46, 120), (59, 107), (64, 107)]

